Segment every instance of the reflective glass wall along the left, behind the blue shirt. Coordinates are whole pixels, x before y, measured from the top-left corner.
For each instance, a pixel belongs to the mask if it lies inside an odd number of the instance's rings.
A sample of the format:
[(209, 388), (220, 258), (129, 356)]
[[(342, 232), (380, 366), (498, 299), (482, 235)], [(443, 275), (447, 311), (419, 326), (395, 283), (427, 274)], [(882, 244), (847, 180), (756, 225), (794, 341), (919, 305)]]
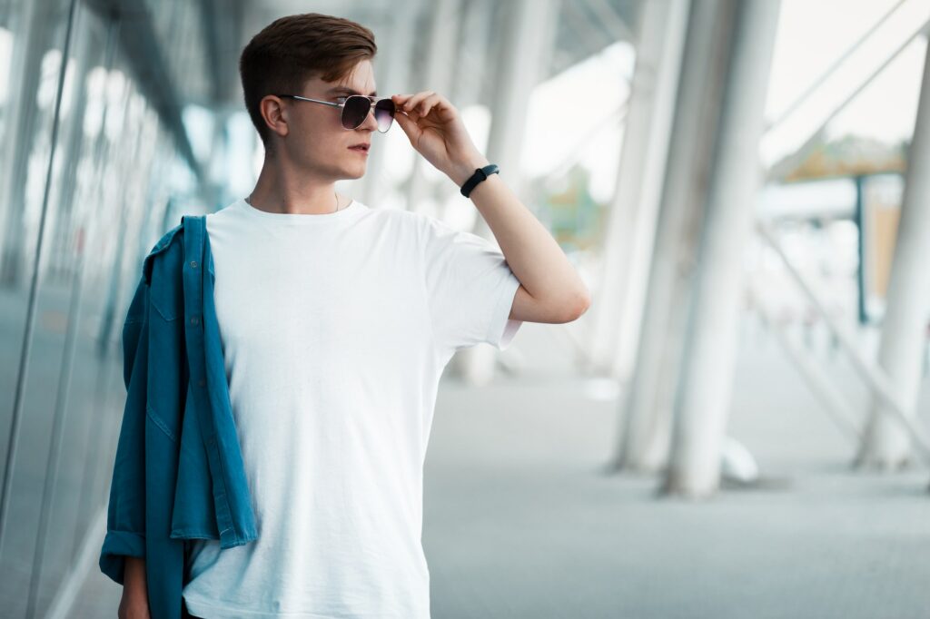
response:
[(0, 4), (4, 617), (45, 615), (104, 526), (126, 395), (122, 319), (178, 205), (198, 210), (170, 86), (179, 71), (203, 79), (202, 44), (165, 37), (193, 31), (199, 12), (132, 4)]

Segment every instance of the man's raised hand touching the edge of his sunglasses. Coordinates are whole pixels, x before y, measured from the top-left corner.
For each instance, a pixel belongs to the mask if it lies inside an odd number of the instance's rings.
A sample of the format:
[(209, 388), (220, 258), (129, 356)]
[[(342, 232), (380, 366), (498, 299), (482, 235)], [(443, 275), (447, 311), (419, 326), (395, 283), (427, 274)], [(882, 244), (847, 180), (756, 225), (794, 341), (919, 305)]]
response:
[(397, 106), (394, 120), (404, 129), (411, 146), (456, 185), (463, 185), (475, 168), (488, 164), (448, 99), (432, 90), (391, 99)]

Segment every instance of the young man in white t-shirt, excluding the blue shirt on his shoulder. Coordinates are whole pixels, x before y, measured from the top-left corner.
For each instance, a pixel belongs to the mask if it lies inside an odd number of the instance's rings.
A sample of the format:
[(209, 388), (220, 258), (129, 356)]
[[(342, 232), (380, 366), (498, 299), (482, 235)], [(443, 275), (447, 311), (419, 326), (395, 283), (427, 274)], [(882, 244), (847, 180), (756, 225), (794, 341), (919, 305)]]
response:
[[(242, 54), (265, 161), (251, 195), (206, 224), (259, 538), (222, 550), (194, 540), (183, 589), (194, 616), (429, 617), (422, 470), (445, 364), (589, 304), (499, 175), (469, 198), (502, 253), (432, 217), (334, 191), (365, 174), (367, 152), (353, 147), (379, 148), (372, 137), (392, 106), (352, 126), (320, 101), (378, 99), (376, 51), (365, 27), (311, 13), (274, 21)], [(489, 164), (441, 95), (391, 101), (411, 146), (458, 187)], [(144, 563), (127, 559), (124, 609), (144, 612), (144, 582)]]

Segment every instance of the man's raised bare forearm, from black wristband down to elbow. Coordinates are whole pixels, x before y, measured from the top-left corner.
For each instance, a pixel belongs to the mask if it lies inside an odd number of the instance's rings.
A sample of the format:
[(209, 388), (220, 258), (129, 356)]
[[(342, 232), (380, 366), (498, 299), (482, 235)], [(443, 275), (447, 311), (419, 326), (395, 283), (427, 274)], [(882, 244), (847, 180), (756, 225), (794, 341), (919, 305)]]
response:
[[(488, 165), (485, 158), (462, 165), (451, 178), (460, 187), (475, 168)], [(549, 230), (520, 202), (499, 174), (492, 174), (469, 194), (472, 203), (494, 233), (500, 251), (526, 291), (539, 300), (578, 304), (581, 311), (590, 294), (565, 252)]]

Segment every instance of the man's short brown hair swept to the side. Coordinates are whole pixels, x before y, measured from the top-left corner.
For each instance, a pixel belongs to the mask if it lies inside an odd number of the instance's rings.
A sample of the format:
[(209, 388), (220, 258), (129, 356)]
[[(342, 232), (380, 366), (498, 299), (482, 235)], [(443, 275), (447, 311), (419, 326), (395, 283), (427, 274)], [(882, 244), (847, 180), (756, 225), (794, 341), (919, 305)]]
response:
[(239, 74), (246, 110), (265, 149), (271, 147), (271, 139), (259, 110), (262, 98), (299, 94), (314, 76), (337, 82), (376, 53), (375, 34), (365, 26), (320, 13), (274, 20), (252, 37), (239, 58)]

